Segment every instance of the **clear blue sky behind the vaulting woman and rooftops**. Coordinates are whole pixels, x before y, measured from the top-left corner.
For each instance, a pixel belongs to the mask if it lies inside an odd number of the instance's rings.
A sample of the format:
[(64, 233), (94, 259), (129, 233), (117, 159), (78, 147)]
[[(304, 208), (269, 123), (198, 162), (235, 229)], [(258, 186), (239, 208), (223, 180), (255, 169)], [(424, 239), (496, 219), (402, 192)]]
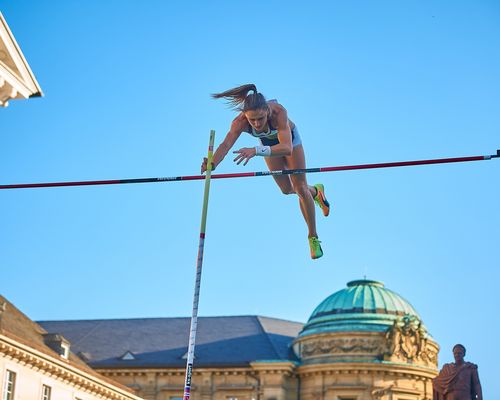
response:
[[(197, 174), (234, 117), (209, 94), (249, 82), (287, 108), (310, 167), (500, 148), (498, 1), (0, 9), (45, 93), (0, 110), (4, 184)], [(334, 204), (317, 261), (272, 178), (214, 181), (200, 315), (305, 322), (367, 276), (418, 310), (440, 365), (463, 343), (500, 398), (499, 177), (499, 160), (310, 175)], [(1, 291), (35, 320), (190, 316), (202, 197), (201, 181), (2, 191)]]

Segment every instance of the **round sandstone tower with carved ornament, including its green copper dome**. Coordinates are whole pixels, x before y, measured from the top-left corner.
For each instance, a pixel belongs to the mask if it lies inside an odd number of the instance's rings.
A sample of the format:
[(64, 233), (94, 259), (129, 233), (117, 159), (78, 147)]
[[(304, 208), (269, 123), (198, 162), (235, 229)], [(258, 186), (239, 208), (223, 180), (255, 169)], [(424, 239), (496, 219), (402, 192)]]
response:
[(293, 342), (303, 400), (432, 398), (439, 346), (415, 309), (372, 280), (316, 307)]

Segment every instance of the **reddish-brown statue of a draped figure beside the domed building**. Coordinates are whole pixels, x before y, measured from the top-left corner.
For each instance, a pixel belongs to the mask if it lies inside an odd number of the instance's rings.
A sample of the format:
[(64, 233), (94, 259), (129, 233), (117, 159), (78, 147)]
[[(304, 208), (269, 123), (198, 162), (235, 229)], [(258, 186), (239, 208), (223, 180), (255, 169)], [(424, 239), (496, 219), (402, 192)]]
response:
[(483, 400), (477, 365), (464, 361), (465, 347), (453, 347), (454, 363), (445, 364), (433, 379), (433, 400)]

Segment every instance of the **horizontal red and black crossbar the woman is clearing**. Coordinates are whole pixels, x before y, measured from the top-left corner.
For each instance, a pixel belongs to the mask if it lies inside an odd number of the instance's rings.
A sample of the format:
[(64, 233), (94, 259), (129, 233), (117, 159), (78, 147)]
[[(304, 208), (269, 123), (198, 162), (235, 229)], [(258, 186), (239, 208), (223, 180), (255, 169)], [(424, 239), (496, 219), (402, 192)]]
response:
[[(215, 174), (212, 179), (226, 178), (245, 178), (252, 176), (267, 176), (267, 175), (295, 175), (295, 174), (310, 174), (314, 172), (337, 172), (349, 171), (356, 169), (375, 169), (375, 168), (392, 168), (392, 167), (408, 167), (413, 165), (426, 164), (447, 164), (468, 161), (485, 161), (492, 158), (499, 158), (500, 150), (497, 154), (486, 156), (471, 156), (471, 157), (454, 157), (454, 158), (436, 158), (431, 160), (416, 160), (416, 161), (398, 161), (378, 164), (358, 164), (358, 165), (341, 165), (338, 167), (322, 167), (322, 168), (305, 168), (305, 169), (287, 169), (280, 171), (261, 171), (261, 172), (242, 172), (234, 174)], [(0, 185), (0, 189), (33, 189), (42, 187), (58, 187), (58, 186), (92, 186), (92, 185), (120, 185), (126, 183), (156, 183), (156, 182), (172, 182), (172, 181), (194, 181), (205, 179), (205, 175), (187, 175), (187, 176), (172, 176), (160, 178), (137, 178), (137, 179), (114, 179), (103, 181), (73, 181), (73, 182), (49, 182), (49, 183), (18, 183), (11, 185)]]

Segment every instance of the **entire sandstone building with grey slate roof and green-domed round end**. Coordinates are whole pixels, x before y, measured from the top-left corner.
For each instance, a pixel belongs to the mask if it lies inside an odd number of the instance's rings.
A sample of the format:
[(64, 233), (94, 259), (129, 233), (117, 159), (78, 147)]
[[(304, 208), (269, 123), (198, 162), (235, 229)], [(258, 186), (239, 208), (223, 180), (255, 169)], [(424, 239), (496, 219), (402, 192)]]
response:
[[(180, 400), (189, 318), (42, 321), (108, 379)], [(201, 317), (192, 400), (430, 400), (439, 347), (415, 309), (380, 282), (328, 296), (306, 324)]]

